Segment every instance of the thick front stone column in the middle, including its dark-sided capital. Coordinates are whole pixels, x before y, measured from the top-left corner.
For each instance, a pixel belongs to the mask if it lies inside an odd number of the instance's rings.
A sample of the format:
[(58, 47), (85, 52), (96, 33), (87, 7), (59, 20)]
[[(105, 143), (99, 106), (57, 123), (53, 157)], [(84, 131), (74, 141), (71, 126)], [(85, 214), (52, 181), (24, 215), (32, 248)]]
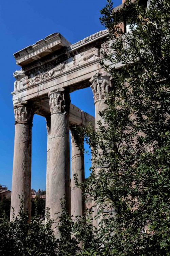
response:
[[(60, 216), (61, 201), (66, 200), (66, 209), (71, 214), (69, 108), (70, 96), (63, 88), (49, 92), (51, 111), (49, 207), (53, 219)], [(58, 219), (53, 225), (57, 238)]]

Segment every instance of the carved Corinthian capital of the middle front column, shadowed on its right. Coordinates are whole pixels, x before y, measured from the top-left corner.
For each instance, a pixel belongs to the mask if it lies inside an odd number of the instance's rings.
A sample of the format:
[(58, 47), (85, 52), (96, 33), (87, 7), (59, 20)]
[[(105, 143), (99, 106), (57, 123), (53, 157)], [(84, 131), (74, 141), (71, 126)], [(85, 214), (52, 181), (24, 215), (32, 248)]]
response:
[(51, 115), (55, 113), (69, 114), (70, 95), (63, 88), (58, 88), (49, 92)]

